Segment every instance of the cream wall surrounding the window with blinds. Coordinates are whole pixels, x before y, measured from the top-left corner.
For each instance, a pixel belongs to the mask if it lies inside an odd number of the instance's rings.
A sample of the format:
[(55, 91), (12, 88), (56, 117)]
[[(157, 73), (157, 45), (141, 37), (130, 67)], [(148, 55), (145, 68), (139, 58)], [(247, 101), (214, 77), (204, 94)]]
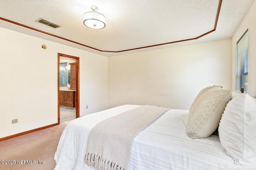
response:
[(256, 1), (232, 37), (232, 90), (236, 82), (236, 42), (248, 29), (248, 93), (256, 96)]

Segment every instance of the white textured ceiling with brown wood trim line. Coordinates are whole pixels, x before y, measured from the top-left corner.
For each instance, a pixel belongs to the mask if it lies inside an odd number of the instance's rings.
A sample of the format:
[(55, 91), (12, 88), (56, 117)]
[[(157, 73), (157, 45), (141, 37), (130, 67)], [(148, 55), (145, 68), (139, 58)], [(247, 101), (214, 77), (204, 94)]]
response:
[[(219, 12), (216, 30), (216, 15)], [(254, 0), (1, 0), (0, 27), (12, 29), (105, 56), (149, 51), (231, 38)], [(104, 29), (83, 25), (90, 6), (106, 17)], [(60, 25), (58, 29), (35, 22), (39, 18)], [(8, 21), (7, 21), (8, 20)], [(66, 41), (10, 23), (74, 41)], [(136, 49), (146, 46), (198, 39)], [(82, 45), (78, 45), (78, 43)], [(101, 52), (101, 51), (125, 51)]]

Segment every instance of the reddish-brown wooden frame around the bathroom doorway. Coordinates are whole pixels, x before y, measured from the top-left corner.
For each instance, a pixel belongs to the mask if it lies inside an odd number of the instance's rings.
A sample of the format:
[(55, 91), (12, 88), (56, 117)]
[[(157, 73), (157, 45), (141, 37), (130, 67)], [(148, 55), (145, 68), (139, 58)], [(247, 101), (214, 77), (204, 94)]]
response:
[(60, 124), (60, 57), (76, 59), (76, 118), (80, 117), (79, 57), (58, 53), (58, 124)]

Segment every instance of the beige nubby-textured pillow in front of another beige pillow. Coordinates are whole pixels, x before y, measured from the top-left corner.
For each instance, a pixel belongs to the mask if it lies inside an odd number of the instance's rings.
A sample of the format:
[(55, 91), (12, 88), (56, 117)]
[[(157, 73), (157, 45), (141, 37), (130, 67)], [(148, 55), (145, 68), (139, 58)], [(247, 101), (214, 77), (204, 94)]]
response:
[(232, 90), (215, 86), (196, 101), (189, 110), (186, 134), (188, 137), (209, 137), (217, 128), (226, 104), (232, 99)]

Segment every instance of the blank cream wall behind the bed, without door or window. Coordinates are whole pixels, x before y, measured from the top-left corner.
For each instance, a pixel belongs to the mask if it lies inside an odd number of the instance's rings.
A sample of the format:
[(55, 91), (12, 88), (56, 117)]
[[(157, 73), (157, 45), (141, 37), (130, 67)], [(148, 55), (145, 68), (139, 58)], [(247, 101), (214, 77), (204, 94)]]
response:
[(231, 88), (231, 64), (231, 39), (108, 57), (108, 107), (189, 109), (202, 88)]

